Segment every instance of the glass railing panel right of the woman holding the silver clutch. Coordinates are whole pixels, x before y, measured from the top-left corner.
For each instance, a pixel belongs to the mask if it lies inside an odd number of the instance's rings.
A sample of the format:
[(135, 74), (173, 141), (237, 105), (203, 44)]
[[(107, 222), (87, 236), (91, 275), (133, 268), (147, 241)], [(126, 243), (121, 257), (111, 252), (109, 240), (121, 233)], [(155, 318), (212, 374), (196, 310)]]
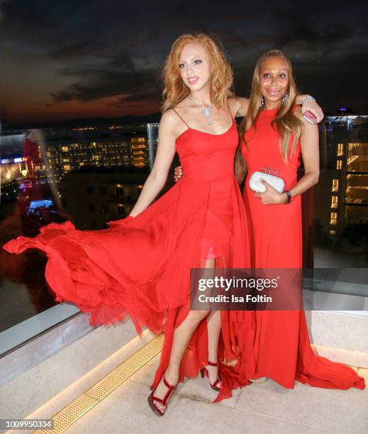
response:
[[(313, 267), (368, 267), (368, 116), (330, 116), (313, 189)], [(306, 194), (309, 196), (311, 194)]]

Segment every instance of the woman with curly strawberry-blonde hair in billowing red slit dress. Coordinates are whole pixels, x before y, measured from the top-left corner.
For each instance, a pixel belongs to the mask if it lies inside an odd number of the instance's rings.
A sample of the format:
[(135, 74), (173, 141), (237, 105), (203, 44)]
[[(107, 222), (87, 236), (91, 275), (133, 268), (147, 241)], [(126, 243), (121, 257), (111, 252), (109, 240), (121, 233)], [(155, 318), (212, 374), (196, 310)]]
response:
[[(252, 349), (250, 315), (208, 315), (189, 306), (192, 267), (250, 266), (247, 216), (233, 172), (238, 131), (227, 107), (230, 67), (211, 38), (184, 35), (172, 46), (164, 78), (165, 113), (155, 166), (131, 216), (111, 221), (106, 230), (52, 223), (35, 238), (18, 237), (4, 245), (17, 254), (28, 248), (45, 252), (45, 277), (56, 300), (71, 301), (90, 313), (92, 325), (115, 323), (129, 314), (139, 333), (143, 326), (154, 333), (165, 331), (149, 397), (159, 416), (184, 375), (196, 377), (206, 368), (220, 401), (231, 396), (231, 389), (250, 384), (252, 373), (244, 362)], [(226, 85), (217, 95), (219, 78)], [(186, 96), (216, 103), (210, 107), (211, 128)], [(165, 183), (175, 150), (186, 177), (150, 204)], [(233, 364), (217, 365), (217, 357)], [(217, 366), (221, 382), (216, 380)]]

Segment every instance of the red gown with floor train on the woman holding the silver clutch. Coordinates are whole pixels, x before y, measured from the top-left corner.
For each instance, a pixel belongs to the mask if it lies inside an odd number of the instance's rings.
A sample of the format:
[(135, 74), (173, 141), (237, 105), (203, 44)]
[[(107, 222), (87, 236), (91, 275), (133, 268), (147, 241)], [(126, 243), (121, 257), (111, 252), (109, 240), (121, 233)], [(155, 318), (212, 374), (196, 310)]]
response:
[[(242, 155), (248, 174), (271, 167), (284, 179), (285, 189), (291, 189), (301, 162), (300, 143), (286, 164), (278, 133), (271, 126), (276, 112), (260, 113), (256, 130), (245, 133), (247, 147), (242, 145)], [(243, 196), (252, 226), (254, 267), (301, 268), (301, 196), (288, 205), (265, 206), (247, 183)], [(314, 354), (304, 311), (257, 311), (255, 321), (255, 377), (270, 377), (289, 389), (295, 380), (326, 389), (364, 389), (364, 379), (353, 369)]]

